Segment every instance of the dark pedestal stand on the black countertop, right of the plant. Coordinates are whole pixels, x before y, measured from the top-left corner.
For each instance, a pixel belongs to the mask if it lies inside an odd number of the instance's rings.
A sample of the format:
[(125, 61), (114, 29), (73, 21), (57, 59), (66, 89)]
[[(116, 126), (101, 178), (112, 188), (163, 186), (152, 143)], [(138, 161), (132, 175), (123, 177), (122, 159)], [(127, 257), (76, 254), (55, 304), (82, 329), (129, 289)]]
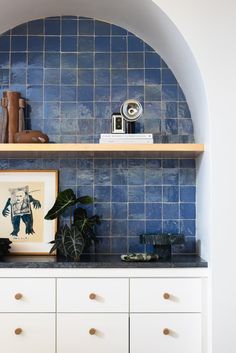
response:
[(184, 244), (185, 237), (182, 234), (142, 234), (140, 243), (153, 245), (153, 251), (160, 260), (171, 259), (171, 246)]

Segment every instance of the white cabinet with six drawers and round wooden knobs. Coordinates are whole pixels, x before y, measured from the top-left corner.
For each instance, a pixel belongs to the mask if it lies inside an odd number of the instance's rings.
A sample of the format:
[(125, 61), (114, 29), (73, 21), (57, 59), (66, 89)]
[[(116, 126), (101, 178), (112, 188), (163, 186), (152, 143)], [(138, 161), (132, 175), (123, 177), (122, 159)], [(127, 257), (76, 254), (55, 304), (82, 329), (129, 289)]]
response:
[(0, 270), (1, 352), (207, 353), (206, 271)]

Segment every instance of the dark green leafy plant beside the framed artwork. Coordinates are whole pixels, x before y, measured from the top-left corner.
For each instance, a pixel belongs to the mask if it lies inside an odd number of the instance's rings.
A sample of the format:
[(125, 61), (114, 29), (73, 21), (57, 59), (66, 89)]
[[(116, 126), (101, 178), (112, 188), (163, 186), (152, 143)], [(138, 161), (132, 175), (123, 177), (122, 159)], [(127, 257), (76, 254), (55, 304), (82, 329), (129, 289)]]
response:
[(70, 222), (68, 224), (58, 224), (58, 231), (55, 236), (50, 254), (57, 250), (59, 256), (67, 259), (79, 261), (84, 249), (88, 249), (95, 241), (94, 226), (100, 224), (98, 215), (88, 216), (86, 209), (82, 207), (74, 208), (77, 204), (88, 205), (93, 203), (90, 196), (76, 197), (72, 189), (59, 192), (53, 207), (48, 211), (45, 219), (53, 220), (70, 211)]

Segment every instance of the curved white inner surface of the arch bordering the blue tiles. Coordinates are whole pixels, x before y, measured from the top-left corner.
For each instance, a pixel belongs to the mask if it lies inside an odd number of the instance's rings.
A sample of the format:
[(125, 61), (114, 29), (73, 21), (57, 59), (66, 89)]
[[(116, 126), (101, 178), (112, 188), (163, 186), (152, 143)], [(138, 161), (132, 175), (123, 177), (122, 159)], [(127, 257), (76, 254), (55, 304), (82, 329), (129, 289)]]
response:
[[(174, 72), (187, 98), (195, 131), (196, 142), (209, 143), (207, 97), (204, 81), (194, 54), (175, 24), (153, 1), (146, 0), (14, 0), (2, 1), (0, 33), (20, 23), (55, 15), (93, 17), (125, 27), (150, 44)], [(184, 65), (183, 65), (184, 62)], [(209, 203), (209, 153), (198, 165), (198, 232), (206, 233)], [(204, 205), (208, 205), (204, 210)], [(203, 240), (203, 255), (207, 244)]]

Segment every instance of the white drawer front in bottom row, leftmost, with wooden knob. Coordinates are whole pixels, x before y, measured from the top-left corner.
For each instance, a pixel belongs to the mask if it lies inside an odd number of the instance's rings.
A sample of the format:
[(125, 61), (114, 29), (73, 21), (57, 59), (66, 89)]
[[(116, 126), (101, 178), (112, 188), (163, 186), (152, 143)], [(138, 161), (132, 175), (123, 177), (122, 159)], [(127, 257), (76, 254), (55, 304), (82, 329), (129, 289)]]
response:
[(3, 353), (55, 352), (55, 314), (0, 314), (0, 327)]

